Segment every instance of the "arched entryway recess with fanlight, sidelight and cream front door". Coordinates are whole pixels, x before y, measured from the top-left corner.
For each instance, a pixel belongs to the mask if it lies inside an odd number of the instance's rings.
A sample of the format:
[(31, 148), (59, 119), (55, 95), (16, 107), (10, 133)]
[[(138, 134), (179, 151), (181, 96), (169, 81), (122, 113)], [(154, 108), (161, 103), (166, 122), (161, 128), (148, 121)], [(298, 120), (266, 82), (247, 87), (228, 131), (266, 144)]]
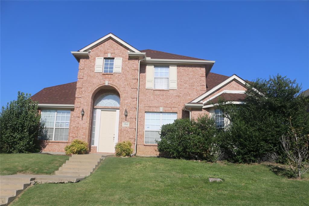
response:
[(91, 145), (96, 152), (113, 153), (118, 142), (120, 95), (116, 90), (102, 89), (94, 96)]

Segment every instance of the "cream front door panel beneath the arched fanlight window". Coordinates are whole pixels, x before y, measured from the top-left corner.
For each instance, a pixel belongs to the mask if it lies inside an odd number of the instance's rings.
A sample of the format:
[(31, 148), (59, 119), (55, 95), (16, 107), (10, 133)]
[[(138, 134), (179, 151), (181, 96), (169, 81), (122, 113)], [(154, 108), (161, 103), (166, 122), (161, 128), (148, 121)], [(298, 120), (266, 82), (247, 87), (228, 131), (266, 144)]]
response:
[(115, 131), (116, 111), (101, 110), (98, 152), (115, 152)]

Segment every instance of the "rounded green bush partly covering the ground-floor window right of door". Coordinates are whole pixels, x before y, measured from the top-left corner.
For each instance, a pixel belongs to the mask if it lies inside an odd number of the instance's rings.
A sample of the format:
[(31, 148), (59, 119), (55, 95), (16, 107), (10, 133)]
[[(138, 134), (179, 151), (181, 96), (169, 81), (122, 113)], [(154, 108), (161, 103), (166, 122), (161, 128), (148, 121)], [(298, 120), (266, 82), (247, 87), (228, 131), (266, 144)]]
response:
[(174, 158), (198, 156), (207, 161), (216, 161), (218, 155), (218, 130), (215, 121), (200, 116), (197, 121), (176, 119), (172, 124), (163, 125), (158, 151)]

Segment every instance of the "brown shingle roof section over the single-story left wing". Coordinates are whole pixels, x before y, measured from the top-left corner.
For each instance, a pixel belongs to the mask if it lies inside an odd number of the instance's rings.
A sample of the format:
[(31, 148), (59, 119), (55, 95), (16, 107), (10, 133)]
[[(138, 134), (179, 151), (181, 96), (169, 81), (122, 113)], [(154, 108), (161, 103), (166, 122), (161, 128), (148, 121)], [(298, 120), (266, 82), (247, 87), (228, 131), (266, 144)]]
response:
[(46, 87), (31, 97), (40, 104), (74, 105), (76, 82)]

